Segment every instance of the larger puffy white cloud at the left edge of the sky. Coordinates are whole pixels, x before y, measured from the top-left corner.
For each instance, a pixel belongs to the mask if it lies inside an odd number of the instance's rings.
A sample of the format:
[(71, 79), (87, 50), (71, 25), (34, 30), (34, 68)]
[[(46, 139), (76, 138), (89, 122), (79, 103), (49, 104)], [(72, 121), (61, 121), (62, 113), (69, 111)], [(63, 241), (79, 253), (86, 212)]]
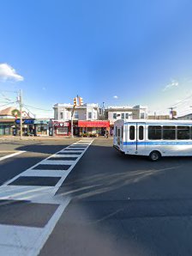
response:
[(23, 76), (20, 76), (16, 73), (15, 69), (13, 69), (9, 64), (0, 64), (0, 80), (3, 81), (23, 81)]

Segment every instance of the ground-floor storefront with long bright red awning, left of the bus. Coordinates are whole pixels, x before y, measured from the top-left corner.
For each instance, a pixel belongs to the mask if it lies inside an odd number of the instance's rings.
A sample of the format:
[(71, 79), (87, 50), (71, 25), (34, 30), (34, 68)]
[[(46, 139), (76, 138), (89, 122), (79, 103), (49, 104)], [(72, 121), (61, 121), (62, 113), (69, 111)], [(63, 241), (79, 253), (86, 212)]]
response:
[(100, 136), (105, 135), (105, 130), (110, 129), (110, 121), (97, 120), (97, 121), (78, 121), (79, 135), (80, 136)]

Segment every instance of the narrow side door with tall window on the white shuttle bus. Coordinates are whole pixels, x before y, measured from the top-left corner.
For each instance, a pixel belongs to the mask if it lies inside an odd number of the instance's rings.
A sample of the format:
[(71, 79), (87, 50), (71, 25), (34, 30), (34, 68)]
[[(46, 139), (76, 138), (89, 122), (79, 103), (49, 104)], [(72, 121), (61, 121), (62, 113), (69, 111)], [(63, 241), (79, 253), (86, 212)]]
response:
[(141, 153), (146, 149), (145, 123), (136, 123), (136, 151)]

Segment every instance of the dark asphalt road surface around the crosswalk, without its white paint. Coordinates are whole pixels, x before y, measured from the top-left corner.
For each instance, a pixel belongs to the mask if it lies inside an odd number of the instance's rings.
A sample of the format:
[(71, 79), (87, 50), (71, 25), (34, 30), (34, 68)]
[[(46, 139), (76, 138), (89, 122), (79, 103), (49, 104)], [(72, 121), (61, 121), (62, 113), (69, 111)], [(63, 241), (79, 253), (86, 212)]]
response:
[[(27, 151), (0, 162), (1, 185), (76, 141), (1, 143), (0, 150)], [(58, 187), (59, 203), (1, 200), (0, 224), (39, 232), (68, 200), (39, 255), (192, 255), (191, 167), (191, 157), (149, 162), (94, 139)]]

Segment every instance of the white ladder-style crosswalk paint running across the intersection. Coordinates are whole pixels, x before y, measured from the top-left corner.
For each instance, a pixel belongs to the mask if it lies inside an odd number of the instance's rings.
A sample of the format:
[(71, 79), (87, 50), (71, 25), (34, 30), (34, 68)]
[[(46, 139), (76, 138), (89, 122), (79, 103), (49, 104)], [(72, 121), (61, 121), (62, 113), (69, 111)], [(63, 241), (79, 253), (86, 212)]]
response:
[[(79, 143), (82, 143), (82, 140), (80, 140)], [(63, 184), (63, 181), (67, 178), (71, 170), (75, 167), (77, 162), (80, 161), (82, 155), (86, 153), (91, 143), (93, 143), (93, 140), (86, 141), (87, 147), (83, 149), (78, 148), (77, 150), (71, 150), (73, 148), (70, 148), (69, 150), (69, 147), (71, 146), (70, 145), (67, 148), (58, 151), (57, 153), (50, 155), (49, 157), (45, 158), (45, 160), (38, 162), (33, 167), (28, 168), (23, 173), (16, 175), (13, 179), (5, 182), (3, 186), (0, 186), (0, 199), (18, 201), (28, 200), (32, 203), (38, 204), (59, 204), (57, 210), (51, 216), (51, 219), (47, 222), (44, 228), (19, 227), (20, 229), (15, 229), (15, 226), (12, 225), (7, 228), (7, 230), (9, 230), (9, 232), (6, 233), (7, 236), (6, 234), (3, 236), (3, 225), (0, 225), (0, 240), (1, 237), (3, 237), (2, 241), (5, 241), (6, 239), (9, 240), (9, 243), (5, 243), (4, 245), (0, 242), (0, 255), (37, 256), (39, 254), (40, 250), (42, 249), (42, 247), (44, 247), (45, 242), (55, 228), (57, 221), (62, 216), (63, 211), (66, 209), (70, 202), (70, 198), (68, 196), (63, 198), (63, 196), (61, 195), (56, 195), (56, 192)], [(80, 152), (81, 154), (78, 154)], [(53, 157), (62, 157), (62, 160), (52, 160)], [(75, 157), (76, 159), (69, 161), (64, 160), (65, 157)], [(49, 160), (50, 158), (51, 160)], [(46, 166), (49, 168), (40, 169), (41, 167)], [(59, 166), (60, 168), (63, 168), (63, 166), (69, 166), (69, 168), (67, 170), (51, 169), (51, 166), (53, 166), (54, 168), (56, 168), (57, 166), (58, 168)], [(37, 179), (40, 179), (40, 177), (45, 177), (46, 179), (48, 179), (49, 177), (60, 179), (54, 186), (23, 186), (11, 184), (17, 179), (35, 179), (35, 177), (37, 177)], [(11, 238), (9, 238), (8, 236), (10, 236)]]

